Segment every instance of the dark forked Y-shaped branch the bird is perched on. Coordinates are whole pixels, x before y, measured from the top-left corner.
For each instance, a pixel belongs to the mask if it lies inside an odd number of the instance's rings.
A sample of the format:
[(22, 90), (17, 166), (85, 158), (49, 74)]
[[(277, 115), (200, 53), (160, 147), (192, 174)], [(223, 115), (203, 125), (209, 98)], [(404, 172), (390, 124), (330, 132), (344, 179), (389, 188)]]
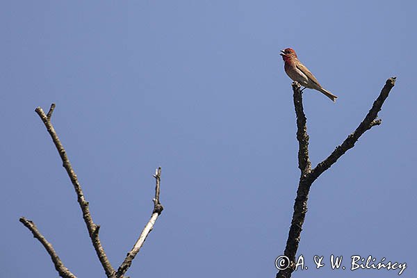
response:
[(330, 166), (336, 163), (338, 158), (343, 156), (347, 150), (354, 147), (354, 143), (357, 142), (359, 137), (361, 137), (365, 131), (371, 129), (373, 126), (381, 124), (382, 121), (377, 120), (377, 115), (394, 85), (395, 77), (386, 81), (379, 97), (377, 97), (372, 108), (361, 124), (359, 124), (357, 129), (352, 134), (347, 136), (343, 143), (336, 147), (332, 154), (330, 154), (324, 161), (318, 163), (318, 165), (311, 170), (308, 149), (309, 136), (306, 133), (306, 117), (302, 107), (302, 93), (300, 91), (300, 85), (298, 83), (293, 83), (294, 105), (295, 113), (297, 115), (297, 140), (300, 147), (298, 151), (298, 165), (301, 170), (301, 174), (297, 189), (297, 197), (295, 198), (293, 220), (291, 221), (290, 231), (288, 232), (288, 240), (284, 250), (284, 255), (290, 260), (290, 265), (284, 270), (279, 270), (276, 276), (277, 278), (290, 278), (291, 273), (294, 271), (296, 263), (295, 254), (297, 254), (298, 245), (300, 243), (302, 224), (304, 224), (307, 212), (307, 201), (309, 199), (311, 184), (316, 181), (322, 172), (325, 172), (325, 170), (329, 169)]

